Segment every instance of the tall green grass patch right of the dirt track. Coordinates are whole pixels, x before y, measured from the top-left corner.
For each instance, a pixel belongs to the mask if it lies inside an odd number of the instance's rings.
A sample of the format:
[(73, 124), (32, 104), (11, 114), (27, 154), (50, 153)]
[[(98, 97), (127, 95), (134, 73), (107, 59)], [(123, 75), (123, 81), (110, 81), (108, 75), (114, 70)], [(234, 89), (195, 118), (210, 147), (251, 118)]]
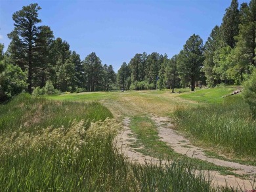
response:
[(256, 121), (241, 96), (232, 96), (222, 104), (178, 109), (180, 128), (198, 140), (217, 145), (234, 155), (256, 155)]

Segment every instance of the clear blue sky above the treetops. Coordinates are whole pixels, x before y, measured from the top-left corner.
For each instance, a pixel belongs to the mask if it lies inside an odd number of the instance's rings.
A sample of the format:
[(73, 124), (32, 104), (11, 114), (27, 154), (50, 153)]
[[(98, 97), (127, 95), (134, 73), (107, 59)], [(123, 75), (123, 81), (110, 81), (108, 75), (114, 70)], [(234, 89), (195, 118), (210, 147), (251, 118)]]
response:
[[(249, 0), (238, 2), (249, 3)], [(0, 0), (0, 43), (14, 28), (12, 14), (38, 3), (40, 25), (70, 44), (81, 56), (91, 52), (115, 71), (136, 53), (158, 52), (171, 58), (195, 33), (203, 43), (220, 25), (231, 0)]]

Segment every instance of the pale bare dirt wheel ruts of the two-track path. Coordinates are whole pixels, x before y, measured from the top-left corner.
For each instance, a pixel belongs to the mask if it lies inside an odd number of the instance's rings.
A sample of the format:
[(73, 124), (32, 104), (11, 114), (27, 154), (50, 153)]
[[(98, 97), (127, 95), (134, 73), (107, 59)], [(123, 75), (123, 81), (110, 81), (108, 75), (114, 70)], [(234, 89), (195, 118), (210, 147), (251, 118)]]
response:
[[(239, 163), (209, 158), (205, 155), (203, 149), (190, 144), (186, 138), (173, 130), (171, 119), (167, 117), (152, 117), (152, 120), (155, 122), (158, 128), (158, 135), (161, 138), (160, 140), (169, 145), (172, 149), (174, 149), (175, 152), (186, 155), (188, 157), (208, 161), (209, 163), (213, 163), (219, 166), (235, 168), (236, 170), (233, 171), (234, 173), (248, 174), (251, 176), (250, 180), (242, 180), (240, 178), (236, 178), (235, 176), (223, 176), (219, 174), (219, 172), (212, 171), (210, 172), (211, 177), (214, 177), (212, 185), (226, 186), (226, 183), (228, 183), (230, 186), (239, 185), (242, 187), (242, 189), (252, 189), (251, 183), (253, 183), (253, 176), (256, 175), (256, 166), (247, 166)], [(123, 120), (124, 129), (116, 138), (116, 145), (119, 151), (121, 151), (121, 153), (126, 155), (127, 158), (133, 162), (141, 164), (146, 163), (146, 161), (158, 163), (158, 159), (153, 159), (153, 157), (142, 155), (142, 153), (135, 151), (135, 149), (130, 146), (137, 138), (133, 136), (131, 129), (129, 128), (129, 124), (129, 117), (125, 117)], [(254, 185), (256, 185), (256, 183)]]

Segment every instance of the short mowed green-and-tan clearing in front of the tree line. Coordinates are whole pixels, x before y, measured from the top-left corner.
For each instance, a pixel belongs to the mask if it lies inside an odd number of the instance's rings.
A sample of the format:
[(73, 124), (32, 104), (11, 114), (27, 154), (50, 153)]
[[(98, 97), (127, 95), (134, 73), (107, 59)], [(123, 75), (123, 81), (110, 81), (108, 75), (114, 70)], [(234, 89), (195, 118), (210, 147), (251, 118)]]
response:
[[(72, 100), (76, 102), (98, 101), (108, 107), (115, 117), (153, 114), (169, 117), (177, 108), (222, 102), (224, 96), (234, 88), (202, 89), (194, 93), (188, 89), (177, 89), (175, 94), (169, 90), (144, 90), (125, 92), (83, 92), (47, 96), (50, 100)], [(181, 91), (181, 93), (179, 93)]]

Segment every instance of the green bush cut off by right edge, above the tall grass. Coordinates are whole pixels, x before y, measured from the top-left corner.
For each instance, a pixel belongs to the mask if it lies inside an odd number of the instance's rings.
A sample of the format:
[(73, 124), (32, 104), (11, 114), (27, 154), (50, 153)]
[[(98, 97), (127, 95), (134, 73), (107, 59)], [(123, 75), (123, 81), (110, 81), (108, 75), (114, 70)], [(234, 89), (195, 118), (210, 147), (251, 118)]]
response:
[(249, 104), (253, 117), (256, 117), (256, 70), (253, 71), (249, 80), (244, 83), (243, 97), (245, 103)]

